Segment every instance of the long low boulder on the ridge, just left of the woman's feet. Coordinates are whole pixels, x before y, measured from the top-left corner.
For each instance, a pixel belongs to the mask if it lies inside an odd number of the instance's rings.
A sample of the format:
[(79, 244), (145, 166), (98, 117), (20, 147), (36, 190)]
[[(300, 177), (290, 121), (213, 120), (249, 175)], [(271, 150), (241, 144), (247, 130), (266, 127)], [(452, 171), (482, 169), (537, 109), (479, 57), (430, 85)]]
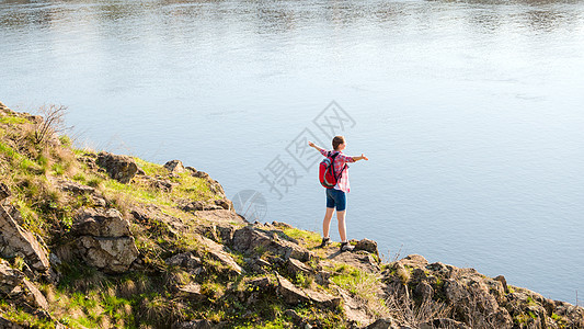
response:
[(263, 230), (252, 225), (236, 230), (232, 246), (234, 250), (248, 256), (270, 252), (285, 260), (294, 258), (305, 262), (312, 258), (308, 249), (279, 239), (275, 231)]

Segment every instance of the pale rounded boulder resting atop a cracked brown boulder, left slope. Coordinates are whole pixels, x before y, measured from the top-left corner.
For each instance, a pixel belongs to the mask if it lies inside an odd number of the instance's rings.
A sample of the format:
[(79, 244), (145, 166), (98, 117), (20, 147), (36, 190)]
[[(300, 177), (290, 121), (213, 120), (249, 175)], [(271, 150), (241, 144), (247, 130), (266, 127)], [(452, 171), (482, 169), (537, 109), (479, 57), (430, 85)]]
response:
[(85, 208), (76, 216), (73, 232), (78, 236), (119, 238), (130, 236), (129, 222), (115, 208)]

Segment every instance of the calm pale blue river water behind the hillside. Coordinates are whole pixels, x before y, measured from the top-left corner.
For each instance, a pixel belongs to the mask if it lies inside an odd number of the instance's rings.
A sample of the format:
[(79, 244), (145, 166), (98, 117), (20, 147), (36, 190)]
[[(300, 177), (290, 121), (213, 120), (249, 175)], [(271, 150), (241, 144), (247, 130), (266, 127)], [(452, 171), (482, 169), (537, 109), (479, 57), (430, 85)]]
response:
[(344, 135), (350, 238), (584, 296), (582, 1), (4, 0), (0, 45), (0, 101), (80, 146), (320, 231), (304, 145)]

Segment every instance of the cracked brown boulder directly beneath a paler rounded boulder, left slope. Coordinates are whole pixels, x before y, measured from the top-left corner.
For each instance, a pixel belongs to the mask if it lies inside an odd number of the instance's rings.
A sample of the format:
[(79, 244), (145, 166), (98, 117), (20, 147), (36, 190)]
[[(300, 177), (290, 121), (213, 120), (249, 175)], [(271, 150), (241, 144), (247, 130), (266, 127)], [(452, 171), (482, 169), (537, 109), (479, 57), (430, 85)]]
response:
[(134, 237), (82, 236), (77, 240), (77, 246), (90, 265), (110, 273), (128, 271), (139, 254)]

